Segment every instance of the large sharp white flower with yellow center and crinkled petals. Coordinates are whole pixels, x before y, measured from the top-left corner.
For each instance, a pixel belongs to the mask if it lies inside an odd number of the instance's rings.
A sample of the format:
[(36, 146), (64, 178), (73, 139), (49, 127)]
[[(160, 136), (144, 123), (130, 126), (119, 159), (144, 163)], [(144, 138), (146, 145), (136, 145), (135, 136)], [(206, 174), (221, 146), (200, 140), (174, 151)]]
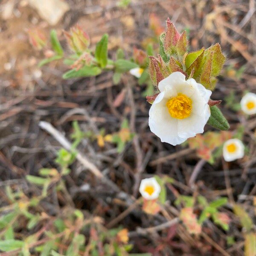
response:
[(149, 110), (148, 124), (162, 142), (177, 145), (204, 132), (211, 114), (210, 90), (195, 79), (185, 80), (180, 72), (160, 81), (158, 88), (160, 93)]

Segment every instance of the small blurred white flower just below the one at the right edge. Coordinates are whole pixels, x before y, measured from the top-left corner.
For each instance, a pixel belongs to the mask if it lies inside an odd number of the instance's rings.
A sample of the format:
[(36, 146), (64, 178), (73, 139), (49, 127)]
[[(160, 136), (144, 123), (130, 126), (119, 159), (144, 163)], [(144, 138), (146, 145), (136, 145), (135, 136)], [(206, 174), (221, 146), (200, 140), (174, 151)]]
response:
[(223, 157), (227, 162), (244, 157), (244, 144), (241, 140), (227, 140), (223, 145)]

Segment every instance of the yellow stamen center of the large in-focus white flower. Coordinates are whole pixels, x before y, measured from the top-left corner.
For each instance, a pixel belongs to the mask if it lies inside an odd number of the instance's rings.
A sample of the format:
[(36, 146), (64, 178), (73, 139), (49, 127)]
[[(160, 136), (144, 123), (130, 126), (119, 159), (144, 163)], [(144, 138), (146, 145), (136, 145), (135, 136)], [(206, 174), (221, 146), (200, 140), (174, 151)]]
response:
[(185, 94), (178, 93), (178, 96), (173, 97), (166, 102), (166, 107), (173, 118), (184, 119), (191, 114), (192, 100)]

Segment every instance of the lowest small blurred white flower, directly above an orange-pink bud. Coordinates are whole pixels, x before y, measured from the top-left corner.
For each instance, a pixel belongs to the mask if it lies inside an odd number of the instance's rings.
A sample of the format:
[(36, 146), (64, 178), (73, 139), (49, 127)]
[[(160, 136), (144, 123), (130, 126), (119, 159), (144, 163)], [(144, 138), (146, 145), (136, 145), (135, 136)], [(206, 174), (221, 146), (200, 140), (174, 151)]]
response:
[(140, 194), (146, 200), (157, 199), (160, 194), (160, 191), (161, 191), (161, 187), (154, 177), (141, 180)]

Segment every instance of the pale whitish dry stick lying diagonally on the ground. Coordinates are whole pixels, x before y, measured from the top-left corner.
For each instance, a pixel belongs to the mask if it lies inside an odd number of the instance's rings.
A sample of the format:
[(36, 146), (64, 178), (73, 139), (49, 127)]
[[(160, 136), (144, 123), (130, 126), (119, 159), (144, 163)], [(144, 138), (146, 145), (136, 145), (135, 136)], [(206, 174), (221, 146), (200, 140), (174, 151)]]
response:
[[(79, 151), (74, 150), (72, 148), (72, 144), (58, 131), (56, 130), (49, 122), (41, 121), (39, 122), (39, 126), (47, 131), (49, 134), (52, 135), (52, 137), (55, 138), (64, 148), (66, 148), (68, 151), (75, 151), (76, 152), (76, 159), (84, 166), (86, 167), (93, 175), (95, 175), (97, 178), (102, 180), (103, 182), (107, 183), (109, 186), (111, 186), (116, 192), (122, 192), (118, 186), (116, 186), (115, 183), (113, 183), (111, 180), (106, 178), (100, 170), (91, 163), (87, 157), (82, 155)], [(122, 192), (124, 193), (124, 192)]]

